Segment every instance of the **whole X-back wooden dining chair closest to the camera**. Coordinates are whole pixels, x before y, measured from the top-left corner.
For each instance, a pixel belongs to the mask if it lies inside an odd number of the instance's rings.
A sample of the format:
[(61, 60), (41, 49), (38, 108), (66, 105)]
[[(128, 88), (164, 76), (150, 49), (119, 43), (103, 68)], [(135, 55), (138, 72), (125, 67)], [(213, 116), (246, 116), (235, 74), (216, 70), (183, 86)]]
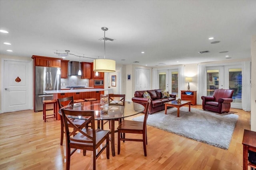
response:
[[(93, 170), (96, 170), (96, 159), (104, 149), (106, 149), (106, 156), (107, 159), (109, 159), (109, 131), (95, 129), (93, 110), (71, 111), (64, 108), (61, 109), (61, 111), (66, 132), (66, 170), (70, 169), (70, 156), (72, 156), (77, 149), (83, 150), (84, 155), (86, 150), (93, 151)], [(84, 123), (77, 126), (69, 118), (70, 116), (86, 117), (86, 120)], [(91, 129), (83, 128), (88, 123), (91, 123)], [(73, 131), (70, 131), (69, 127), (73, 127)], [(73, 149), (72, 151), (71, 148)], [(98, 152), (96, 152), (96, 150)]]

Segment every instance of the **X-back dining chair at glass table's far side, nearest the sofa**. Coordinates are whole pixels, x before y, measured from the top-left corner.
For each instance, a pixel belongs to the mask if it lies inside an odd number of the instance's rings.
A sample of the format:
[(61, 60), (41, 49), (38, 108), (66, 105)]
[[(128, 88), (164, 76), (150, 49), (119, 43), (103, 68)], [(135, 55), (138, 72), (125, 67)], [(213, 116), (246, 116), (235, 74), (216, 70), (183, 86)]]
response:
[[(109, 106), (114, 106), (114, 105), (118, 105), (118, 106), (124, 106), (125, 104), (125, 94), (108, 94), (108, 105)], [(124, 119), (124, 118), (123, 118)], [(121, 123), (122, 119), (115, 119), (115, 121), (118, 121), (118, 124)], [(109, 122), (109, 123), (108, 123)], [(105, 121), (103, 123), (103, 120), (101, 121), (101, 129), (103, 129), (103, 126), (108, 123), (109, 127), (110, 127), (110, 121)], [(117, 131), (115, 131), (117, 132)]]

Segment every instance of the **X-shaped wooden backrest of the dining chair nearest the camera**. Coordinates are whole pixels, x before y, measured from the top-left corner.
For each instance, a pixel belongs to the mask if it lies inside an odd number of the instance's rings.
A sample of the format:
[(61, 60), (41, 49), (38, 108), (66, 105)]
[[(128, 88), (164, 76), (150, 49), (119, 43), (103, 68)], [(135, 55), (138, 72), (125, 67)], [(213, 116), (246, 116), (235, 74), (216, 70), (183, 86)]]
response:
[[(94, 111), (76, 111), (76, 110), (68, 110), (68, 109), (61, 109), (62, 111), (62, 119), (64, 122), (64, 127), (66, 131), (66, 139), (67, 139), (67, 145), (70, 144), (70, 141), (73, 142), (79, 142), (79, 143), (93, 143), (95, 145), (96, 143), (96, 135), (95, 135), (95, 121), (94, 121)], [(81, 125), (76, 125), (72, 122), (73, 118), (70, 118), (72, 116), (82, 116), (86, 117), (86, 120), (84, 120), (84, 123)], [(91, 129), (83, 130), (83, 127), (86, 126), (86, 124), (91, 123)], [(72, 131), (68, 127), (72, 127)], [(80, 137), (80, 139), (77, 139), (76, 134), (80, 133), (83, 137)]]

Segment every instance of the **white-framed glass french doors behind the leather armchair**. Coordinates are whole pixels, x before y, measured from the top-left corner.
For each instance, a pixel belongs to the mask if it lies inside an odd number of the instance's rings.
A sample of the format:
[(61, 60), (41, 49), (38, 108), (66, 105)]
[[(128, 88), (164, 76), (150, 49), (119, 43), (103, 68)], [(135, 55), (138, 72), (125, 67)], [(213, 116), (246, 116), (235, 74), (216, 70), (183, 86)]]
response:
[(215, 89), (232, 89), (232, 108), (242, 109), (242, 68), (240, 65), (211, 66), (207, 70), (207, 96)]

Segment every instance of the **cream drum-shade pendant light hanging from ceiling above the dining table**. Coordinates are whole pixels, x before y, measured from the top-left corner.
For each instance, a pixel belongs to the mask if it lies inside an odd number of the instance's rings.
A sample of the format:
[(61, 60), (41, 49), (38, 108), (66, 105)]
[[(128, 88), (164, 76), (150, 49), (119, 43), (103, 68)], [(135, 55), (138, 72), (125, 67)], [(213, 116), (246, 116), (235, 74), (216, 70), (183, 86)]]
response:
[(93, 61), (93, 71), (96, 72), (115, 72), (116, 71), (116, 61), (105, 59), (106, 55), (106, 45), (105, 45), (105, 31), (108, 31), (107, 27), (101, 28), (104, 31), (104, 59), (95, 59)]

